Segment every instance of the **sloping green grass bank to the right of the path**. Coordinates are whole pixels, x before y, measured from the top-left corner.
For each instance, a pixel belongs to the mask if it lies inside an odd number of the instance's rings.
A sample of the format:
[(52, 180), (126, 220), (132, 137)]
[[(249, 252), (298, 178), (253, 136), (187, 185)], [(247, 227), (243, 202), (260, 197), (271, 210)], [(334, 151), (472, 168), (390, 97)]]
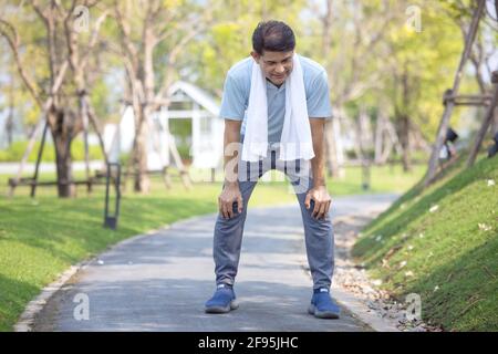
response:
[(419, 294), (425, 321), (498, 331), (498, 158), (467, 169), (465, 157), (374, 220), (353, 254), (400, 301)]

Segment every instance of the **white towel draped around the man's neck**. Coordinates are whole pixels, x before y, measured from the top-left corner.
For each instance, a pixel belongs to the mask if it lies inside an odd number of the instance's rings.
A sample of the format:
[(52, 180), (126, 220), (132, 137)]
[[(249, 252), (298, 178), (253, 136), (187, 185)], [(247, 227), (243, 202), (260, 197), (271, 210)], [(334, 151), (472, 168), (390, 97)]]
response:
[[(308, 117), (304, 79), (298, 54), (292, 58), (293, 69), (286, 85), (286, 115), (280, 137), (280, 160), (311, 159), (314, 157), (311, 127)], [(242, 160), (258, 162), (268, 153), (267, 82), (258, 63), (252, 65), (251, 90), (247, 107)]]

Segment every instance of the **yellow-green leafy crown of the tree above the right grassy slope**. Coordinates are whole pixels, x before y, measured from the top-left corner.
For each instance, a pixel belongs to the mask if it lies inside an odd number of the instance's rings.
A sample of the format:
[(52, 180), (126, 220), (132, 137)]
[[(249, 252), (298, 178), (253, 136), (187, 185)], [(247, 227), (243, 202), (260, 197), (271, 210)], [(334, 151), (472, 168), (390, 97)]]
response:
[(432, 139), (443, 114), (443, 93), (453, 85), (464, 45), (461, 37), (456, 35), (458, 27), (445, 15), (444, 3), (415, 1), (412, 4), (423, 9), (422, 31), (400, 25), (403, 22), (390, 29), (385, 64), (392, 74), (385, 77), (386, 93), (392, 102), (391, 114), (409, 116), (425, 137)]

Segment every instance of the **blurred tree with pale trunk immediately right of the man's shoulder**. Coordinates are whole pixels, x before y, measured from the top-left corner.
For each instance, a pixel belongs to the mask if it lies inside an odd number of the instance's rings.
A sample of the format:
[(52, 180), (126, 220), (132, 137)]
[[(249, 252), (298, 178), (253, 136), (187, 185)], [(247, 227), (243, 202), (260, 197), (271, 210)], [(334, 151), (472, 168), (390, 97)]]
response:
[[(381, 88), (382, 71), (375, 56), (384, 32), (393, 19), (391, 1), (333, 1), (324, 8), (314, 4), (319, 58), (329, 75), (334, 117), (325, 125), (326, 167), (330, 176), (340, 175), (341, 121), (347, 119), (349, 103), (362, 100), (372, 88)], [(378, 17), (383, 13), (386, 18)]]

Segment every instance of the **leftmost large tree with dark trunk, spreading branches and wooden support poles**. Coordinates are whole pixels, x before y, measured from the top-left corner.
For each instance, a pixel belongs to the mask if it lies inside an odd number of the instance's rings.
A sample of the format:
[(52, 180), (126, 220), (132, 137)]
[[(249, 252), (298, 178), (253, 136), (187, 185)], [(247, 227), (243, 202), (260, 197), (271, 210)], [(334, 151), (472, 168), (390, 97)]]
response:
[[(29, 146), (32, 147), (37, 132), (46, 123), (54, 142), (60, 197), (74, 195), (71, 142), (86, 128), (86, 116), (92, 117), (92, 107), (86, 98), (89, 88), (85, 72), (106, 13), (104, 11), (95, 21), (94, 31), (89, 37), (80, 35), (75, 21), (81, 20), (81, 11), (93, 8), (97, 2), (84, 1), (84, 6), (77, 8), (75, 0), (64, 3), (52, 0), (44, 7), (39, 1), (28, 1), (27, 4), (32, 11), (23, 8), (22, 11), (27, 11), (24, 15), (31, 17), (34, 12), (39, 20), (37, 25), (41, 24), (44, 29), (44, 33), (37, 33), (35, 39), (39, 42), (32, 43), (40, 56), (45, 60), (44, 70), (39, 72), (29, 66), (28, 51), (19, 33), (22, 22), (15, 25), (3, 15), (0, 18), (0, 34), (7, 40), (19, 75), (42, 115)], [(80, 11), (75, 11), (77, 9)], [(14, 14), (21, 11), (19, 8), (15, 10)], [(95, 116), (92, 117), (92, 122), (97, 129)], [(29, 154), (30, 147), (25, 155)]]

